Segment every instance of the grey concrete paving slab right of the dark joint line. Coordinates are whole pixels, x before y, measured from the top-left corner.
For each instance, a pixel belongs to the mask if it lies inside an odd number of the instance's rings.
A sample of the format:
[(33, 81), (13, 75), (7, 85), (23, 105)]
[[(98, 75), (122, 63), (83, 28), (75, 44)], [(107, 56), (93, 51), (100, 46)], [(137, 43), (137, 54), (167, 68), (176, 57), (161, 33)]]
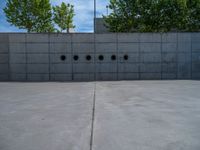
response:
[(93, 150), (199, 150), (200, 82), (96, 87)]

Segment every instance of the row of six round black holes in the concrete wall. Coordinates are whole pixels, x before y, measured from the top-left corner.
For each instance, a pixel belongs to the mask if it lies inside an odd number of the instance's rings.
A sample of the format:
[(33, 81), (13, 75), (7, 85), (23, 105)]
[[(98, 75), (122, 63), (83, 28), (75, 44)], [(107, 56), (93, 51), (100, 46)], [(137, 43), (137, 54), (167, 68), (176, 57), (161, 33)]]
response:
[[(90, 55), (87, 55), (85, 58), (88, 61), (90, 61), (92, 59), (92, 57)], [(64, 61), (66, 59), (66, 56), (65, 55), (61, 55), (60, 59), (62, 61)], [(74, 60), (77, 61), (78, 59), (79, 59), (79, 56), (78, 55), (74, 55)], [(103, 61), (104, 60), (104, 56), (103, 55), (99, 55), (99, 60)], [(116, 55), (112, 55), (111, 56), (111, 60), (116, 60)], [(128, 60), (128, 55), (124, 55), (124, 60)]]

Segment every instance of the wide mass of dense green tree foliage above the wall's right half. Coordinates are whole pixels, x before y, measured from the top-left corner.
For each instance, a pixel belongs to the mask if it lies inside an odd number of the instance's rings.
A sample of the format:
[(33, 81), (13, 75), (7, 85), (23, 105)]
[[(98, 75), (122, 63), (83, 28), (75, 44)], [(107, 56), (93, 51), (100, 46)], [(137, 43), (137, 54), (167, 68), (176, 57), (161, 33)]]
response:
[(200, 0), (110, 0), (109, 8), (103, 17), (111, 32), (200, 29)]

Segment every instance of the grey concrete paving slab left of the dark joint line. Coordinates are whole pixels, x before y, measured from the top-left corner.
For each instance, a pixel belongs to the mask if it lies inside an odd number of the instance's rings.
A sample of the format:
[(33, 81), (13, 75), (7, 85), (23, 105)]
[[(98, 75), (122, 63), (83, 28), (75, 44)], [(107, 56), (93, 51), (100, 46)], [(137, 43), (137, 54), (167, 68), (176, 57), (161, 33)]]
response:
[(0, 150), (89, 150), (92, 83), (0, 83)]

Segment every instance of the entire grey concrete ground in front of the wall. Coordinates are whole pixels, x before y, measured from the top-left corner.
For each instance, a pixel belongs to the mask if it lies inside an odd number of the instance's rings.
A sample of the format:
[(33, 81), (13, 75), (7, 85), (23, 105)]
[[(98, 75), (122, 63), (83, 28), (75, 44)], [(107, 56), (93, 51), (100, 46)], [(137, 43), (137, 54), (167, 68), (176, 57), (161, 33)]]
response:
[(0, 83), (0, 150), (199, 150), (200, 81)]

